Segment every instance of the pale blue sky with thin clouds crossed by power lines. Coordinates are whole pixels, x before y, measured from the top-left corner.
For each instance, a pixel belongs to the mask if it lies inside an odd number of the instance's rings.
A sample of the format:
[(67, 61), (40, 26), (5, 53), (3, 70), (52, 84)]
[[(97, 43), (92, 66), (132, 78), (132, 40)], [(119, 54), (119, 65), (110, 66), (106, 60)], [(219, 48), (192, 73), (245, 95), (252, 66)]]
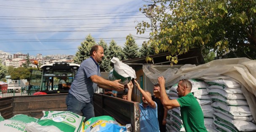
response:
[(137, 34), (139, 11), (150, 0), (0, 0), (0, 50), (15, 54), (73, 54), (86, 36), (124, 47), (132, 34), (141, 47), (150, 30)]

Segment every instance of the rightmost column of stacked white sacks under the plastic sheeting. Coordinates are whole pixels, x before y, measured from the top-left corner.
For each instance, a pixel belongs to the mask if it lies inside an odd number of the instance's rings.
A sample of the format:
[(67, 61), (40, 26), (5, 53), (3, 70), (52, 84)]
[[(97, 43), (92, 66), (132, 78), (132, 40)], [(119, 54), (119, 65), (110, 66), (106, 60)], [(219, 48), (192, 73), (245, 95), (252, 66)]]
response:
[(232, 80), (205, 80), (211, 104), (214, 129), (218, 132), (256, 131), (241, 85)]

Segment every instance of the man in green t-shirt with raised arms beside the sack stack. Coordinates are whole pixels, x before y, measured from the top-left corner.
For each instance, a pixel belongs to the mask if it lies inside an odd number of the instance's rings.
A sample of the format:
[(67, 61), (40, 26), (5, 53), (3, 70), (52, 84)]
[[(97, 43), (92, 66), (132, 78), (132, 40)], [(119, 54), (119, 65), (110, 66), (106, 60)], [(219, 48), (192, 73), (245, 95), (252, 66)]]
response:
[(158, 77), (158, 83), (160, 93), (156, 92), (155, 95), (160, 96), (162, 104), (167, 109), (181, 108), (181, 119), (186, 132), (207, 132), (204, 125), (203, 111), (196, 98), (190, 93), (192, 89), (191, 82), (187, 79), (180, 80), (177, 88), (179, 98), (173, 100), (170, 100), (165, 92), (165, 79)]

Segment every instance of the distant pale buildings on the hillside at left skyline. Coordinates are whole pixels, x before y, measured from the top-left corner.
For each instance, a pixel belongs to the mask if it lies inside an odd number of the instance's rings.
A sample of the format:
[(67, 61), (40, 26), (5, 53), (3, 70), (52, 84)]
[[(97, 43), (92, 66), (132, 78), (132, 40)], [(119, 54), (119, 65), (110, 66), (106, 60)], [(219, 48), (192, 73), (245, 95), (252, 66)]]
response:
[[(12, 67), (22, 67), (22, 63), (25, 63), (27, 60), (27, 54), (16, 53), (10, 54), (8, 52), (3, 52), (0, 50), (0, 62), (5, 66)], [(53, 62), (74, 62), (74, 55), (66, 54), (55, 54), (42, 56), (42, 54), (37, 54), (37, 56), (29, 55), (29, 61), (33, 62), (37, 60), (41, 65), (49, 64)], [(36, 67), (35, 65), (29, 65), (29, 67)]]

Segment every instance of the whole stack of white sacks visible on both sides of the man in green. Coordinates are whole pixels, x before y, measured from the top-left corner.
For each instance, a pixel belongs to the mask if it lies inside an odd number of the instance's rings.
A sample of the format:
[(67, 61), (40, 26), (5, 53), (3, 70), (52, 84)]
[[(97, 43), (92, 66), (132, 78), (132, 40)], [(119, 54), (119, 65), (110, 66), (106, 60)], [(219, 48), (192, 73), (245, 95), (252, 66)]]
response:
[[(208, 132), (256, 131), (248, 103), (241, 85), (230, 80), (190, 79), (192, 93), (200, 104), (205, 127)], [(170, 99), (177, 99), (178, 84), (166, 91)], [(168, 132), (185, 132), (180, 108), (168, 110), (166, 129)]]

